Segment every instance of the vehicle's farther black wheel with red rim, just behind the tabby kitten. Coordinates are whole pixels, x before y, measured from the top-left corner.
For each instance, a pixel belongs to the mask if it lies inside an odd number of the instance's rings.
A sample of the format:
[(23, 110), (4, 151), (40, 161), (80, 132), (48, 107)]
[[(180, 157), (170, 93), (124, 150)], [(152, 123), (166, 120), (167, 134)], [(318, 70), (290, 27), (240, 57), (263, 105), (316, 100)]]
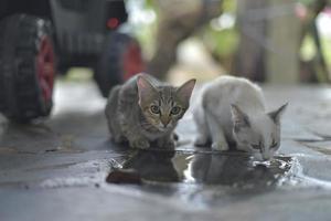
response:
[(113, 86), (143, 70), (139, 43), (127, 34), (111, 32), (106, 38), (105, 50), (100, 54), (94, 77), (103, 96), (107, 97)]

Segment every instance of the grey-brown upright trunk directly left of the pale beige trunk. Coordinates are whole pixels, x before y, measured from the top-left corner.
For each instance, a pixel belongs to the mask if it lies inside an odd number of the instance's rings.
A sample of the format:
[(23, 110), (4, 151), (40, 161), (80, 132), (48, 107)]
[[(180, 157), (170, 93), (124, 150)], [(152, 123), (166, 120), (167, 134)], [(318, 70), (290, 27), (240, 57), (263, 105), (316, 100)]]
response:
[(241, 0), (237, 9), (239, 45), (232, 73), (253, 81), (265, 81), (266, 20), (258, 10), (266, 9), (268, 0)]

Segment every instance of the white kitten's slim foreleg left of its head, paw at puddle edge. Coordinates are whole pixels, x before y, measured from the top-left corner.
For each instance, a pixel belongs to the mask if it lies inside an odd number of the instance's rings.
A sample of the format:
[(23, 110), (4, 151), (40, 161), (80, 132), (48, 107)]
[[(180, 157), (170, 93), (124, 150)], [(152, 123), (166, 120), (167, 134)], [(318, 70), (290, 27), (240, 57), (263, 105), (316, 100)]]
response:
[(228, 150), (228, 144), (221, 124), (210, 114), (206, 114), (206, 120), (212, 136), (212, 149), (220, 151)]

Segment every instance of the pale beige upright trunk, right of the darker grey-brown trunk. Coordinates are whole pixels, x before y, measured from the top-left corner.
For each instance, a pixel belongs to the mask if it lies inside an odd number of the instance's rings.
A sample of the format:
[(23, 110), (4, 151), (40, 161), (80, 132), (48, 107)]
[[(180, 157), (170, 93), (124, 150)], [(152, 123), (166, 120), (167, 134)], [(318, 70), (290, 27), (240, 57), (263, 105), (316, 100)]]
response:
[(295, 0), (271, 0), (277, 10), (284, 6), (284, 14), (268, 22), (267, 81), (271, 83), (298, 83), (300, 81), (300, 21), (295, 14)]

